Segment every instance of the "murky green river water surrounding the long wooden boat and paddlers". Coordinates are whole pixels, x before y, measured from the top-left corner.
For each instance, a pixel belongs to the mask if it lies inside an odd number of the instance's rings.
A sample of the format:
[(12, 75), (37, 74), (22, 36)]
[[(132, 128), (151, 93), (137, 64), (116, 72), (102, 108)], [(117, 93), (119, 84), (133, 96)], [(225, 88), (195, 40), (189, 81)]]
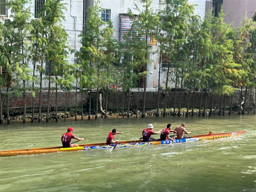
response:
[[(256, 116), (107, 118), (0, 126), (0, 150), (60, 146), (69, 126), (79, 143), (104, 142), (116, 128), (122, 140), (141, 137), (148, 124), (158, 131), (168, 123), (187, 131), (236, 132), (235, 138), (173, 145), (0, 157), (1, 192), (256, 192)], [(5, 122), (4, 122), (5, 123)], [(158, 138), (157, 135), (154, 135)], [(118, 139), (119, 135), (115, 136)], [(75, 141), (75, 140), (74, 140)]]

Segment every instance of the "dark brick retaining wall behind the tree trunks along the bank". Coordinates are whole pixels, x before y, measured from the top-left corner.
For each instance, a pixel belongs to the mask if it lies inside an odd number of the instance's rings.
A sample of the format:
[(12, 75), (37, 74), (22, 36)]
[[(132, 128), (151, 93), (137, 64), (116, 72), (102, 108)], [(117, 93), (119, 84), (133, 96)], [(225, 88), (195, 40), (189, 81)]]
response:
[[(244, 93), (244, 92), (243, 92)], [(65, 105), (66, 105), (66, 95), (65, 92), (58, 92), (58, 110), (63, 110), (65, 109)], [(139, 94), (139, 109), (141, 110), (142, 108), (142, 104), (143, 104), (143, 92), (130, 92), (131, 97), (130, 97), (130, 108), (136, 109), (137, 108), (137, 101), (138, 101), (138, 94)], [(180, 98), (181, 98), (181, 108), (186, 108), (187, 104), (188, 104), (188, 92), (177, 92), (177, 98), (176, 98), (176, 108), (179, 107), (179, 102), (180, 102)], [(190, 93), (190, 102), (189, 102), (189, 108), (192, 108), (192, 102), (193, 102), (193, 92)], [(200, 92), (195, 92), (195, 108), (199, 108), (200, 106)], [(47, 108), (47, 95), (48, 92), (44, 91), (42, 92), (42, 111), (46, 111)], [(202, 107), (204, 107), (204, 92), (202, 94), (203, 100), (202, 100)], [(2, 92), (2, 100), (4, 98), (5, 94)], [(163, 108), (164, 107), (164, 94), (162, 94), (162, 92), (160, 92), (159, 95), (159, 107)], [(239, 101), (239, 97), (240, 97), (240, 92), (234, 92), (233, 94), (233, 102), (232, 105), (233, 107), (236, 106), (236, 102)], [(68, 104), (68, 108), (74, 108), (76, 105), (76, 92), (68, 92), (67, 93), (67, 104)], [(87, 102), (87, 98), (88, 98), (88, 92), (83, 93), (83, 104), (85, 104)], [(96, 98), (96, 92), (92, 92), (92, 98), (94, 98), (94, 100), (92, 100), (92, 102), (95, 102), (95, 98)], [(102, 95), (102, 107), (105, 107), (105, 97), (104, 95)], [(167, 108), (172, 108), (174, 105), (174, 98), (175, 98), (175, 92), (168, 92), (168, 96), (167, 96)], [(208, 92), (207, 93), (207, 98), (206, 98), (206, 107), (210, 108), (211, 106), (211, 99), (212, 99), (212, 92)], [(217, 103), (217, 107), (220, 106), (220, 96), (214, 95), (213, 97), (213, 106), (216, 106), (216, 100), (218, 99), (218, 103)], [(246, 100), (246, 106), (248, 107), (249, 104), (249, 99), (250, 99), (250, 92), (248, 92), (247, 94), (247, 100)], [(118, 92), (118, 97), (117, 97), (117, 92), (110, 92), (108, 94), (108, 107), (109, 108), (116, 108), (117, 105), (117, 101), (118, 101), (118, 107), (122, 108), (123, 107), (123, 92), (120, 91)], [(253, 101), (253, 94), (252, 94), (252, 99), (251, 99), (251, 103)], [(77, 107), (81, 107), (81, 92), (77, 92)], [(230, 102), (231, 102), (231, 97), (226, 96), (226, 101), (225, 101), (225, 105), (226, 106), (230, 106)], [(127, 97), (127, 92), (125, 92), (125, 97), (124, 97), (124, 107), (127, 107), (127, 103), (128, 103), (128, 97)], [(222, 99), (222, 106), (224, 104), (224, 97)], [(36, 94), (36, 102), (35, 102), (35, 111), (38, 110), (38, 105), (39, 105), (39, 94)], [(50, 95), (50, 110), (54, 109), (55, 106), (55, 92), (51, 92)], [(93, 104), (92, 104), (93, 106)], [(157, 106), (157, 92), (146, 92), (146, 108), (156, 108)], [(252, 106), (252, 104), (251, 104)], [(21, 96), (20, 98), (16, 98), (14, 93), (12, 93), (11, 96), (9, 96), (9, 111), (23, 111), (23, 96)], [(30, 94), (26, 95), (26, 110), (27, 112), (32, 111), (32, 96)], [(99, 107), (100, 109), (100, 107)], [(6, 102), (3, 104), (3, 112), (5, 112), (6, 110)], [(86, 109), (85, 109), (86, 110)]]

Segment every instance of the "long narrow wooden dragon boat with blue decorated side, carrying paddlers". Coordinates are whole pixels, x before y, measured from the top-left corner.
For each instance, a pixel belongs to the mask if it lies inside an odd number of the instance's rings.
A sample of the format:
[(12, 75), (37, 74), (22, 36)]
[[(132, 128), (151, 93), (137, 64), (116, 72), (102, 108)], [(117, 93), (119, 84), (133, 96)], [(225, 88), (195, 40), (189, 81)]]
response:
[[(174, 143), (184, 143), (189, 141), (200, 141), (200, 140), (212, 140), (219, 138), (235, 137), (241, 135), (245, 131), (240, 132), (228, 132), (228, 133), (212, 133), (204, 135), (193, 135), (189, 139), (176, 139)], [(170, 144), (172, 141), (151, 141), (151, 142), (142, 142), (141, 140), (130, 140), (122, 141), (122, 144), (117, 144), (116, 148), (128, 148), (128, 147), (141, 147), (149, 145), (159, 145), (159, 144)], [(63, 148), (62, 146), (58, 147), (46, 147), (46, 148), (30, 148), (30, 149), (17, 149), (17, 150), (7, 150), (0, 151), (0, 156), (16, 156), (16, 155), (36, 155), (42, 153), (53, 153), (53, 152), (68, 152), (68, 151), (80, 151), (80, 150), (91, 150), (91, 149), (111, 149), (114, 145), (107, 145), (106, 143), (91, 143), (91, 144), (81, 144), (79, 147), (73, 148)]]

